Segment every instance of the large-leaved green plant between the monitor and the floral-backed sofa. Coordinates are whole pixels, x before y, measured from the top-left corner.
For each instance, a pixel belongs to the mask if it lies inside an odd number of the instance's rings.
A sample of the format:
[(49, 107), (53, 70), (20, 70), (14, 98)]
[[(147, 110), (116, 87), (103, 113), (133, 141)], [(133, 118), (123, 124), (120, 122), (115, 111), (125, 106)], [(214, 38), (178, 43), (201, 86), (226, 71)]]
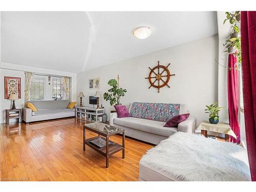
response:
[(126, 89), (118, 88), (118, 82), (116, 79), (110, 79), (108, 84), (112, 87), (108, 92), (103, 94), (103, 98), (106, 101), (110, 101), (110, 105), (121, 105), (120, 98), (127, 92)]

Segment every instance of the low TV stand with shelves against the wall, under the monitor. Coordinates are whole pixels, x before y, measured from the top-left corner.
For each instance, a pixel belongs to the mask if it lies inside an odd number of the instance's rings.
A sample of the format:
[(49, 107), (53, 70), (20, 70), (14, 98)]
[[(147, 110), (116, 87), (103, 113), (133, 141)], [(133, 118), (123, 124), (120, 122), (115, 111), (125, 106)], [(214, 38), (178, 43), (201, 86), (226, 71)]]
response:
[(75, 116), (78, 119), (88, 121), (100, 121), (99, 117), (105, 113), (105, 109), (95, 109), (90, 106), (75, 106)]

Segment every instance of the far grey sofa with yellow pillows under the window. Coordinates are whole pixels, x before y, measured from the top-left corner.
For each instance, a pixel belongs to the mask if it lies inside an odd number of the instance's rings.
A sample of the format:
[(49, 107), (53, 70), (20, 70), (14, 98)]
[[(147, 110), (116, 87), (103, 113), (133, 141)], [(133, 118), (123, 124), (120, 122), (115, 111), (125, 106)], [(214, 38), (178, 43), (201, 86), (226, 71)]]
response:
[(67, 109), (68, 100), (29, 102), (36, 107), (37, 112), (32, 112), (30, 108), (23, 108), (22, 119), (26, 123), (75, 116), (75, 109)]

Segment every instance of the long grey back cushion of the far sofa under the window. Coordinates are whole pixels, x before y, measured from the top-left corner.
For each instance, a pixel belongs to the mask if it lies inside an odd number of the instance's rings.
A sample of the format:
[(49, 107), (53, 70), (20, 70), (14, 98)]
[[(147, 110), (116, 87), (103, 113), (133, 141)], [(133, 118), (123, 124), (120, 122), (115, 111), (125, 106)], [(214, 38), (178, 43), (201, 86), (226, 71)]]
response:
[(37, 110), (57, 110), (57, 109), (66, 109), (69, 105), (68, 100), (59, 100), (59, 101), (29, 101), (31, 102)]

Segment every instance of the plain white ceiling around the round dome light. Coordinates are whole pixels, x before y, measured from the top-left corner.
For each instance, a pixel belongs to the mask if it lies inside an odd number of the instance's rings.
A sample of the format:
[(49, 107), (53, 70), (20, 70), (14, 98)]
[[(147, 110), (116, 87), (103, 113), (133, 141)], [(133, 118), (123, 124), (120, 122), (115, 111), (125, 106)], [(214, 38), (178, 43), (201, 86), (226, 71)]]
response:
[(1, 61), (79, 73), (217, 31), (216, 12), (1, 12)]

